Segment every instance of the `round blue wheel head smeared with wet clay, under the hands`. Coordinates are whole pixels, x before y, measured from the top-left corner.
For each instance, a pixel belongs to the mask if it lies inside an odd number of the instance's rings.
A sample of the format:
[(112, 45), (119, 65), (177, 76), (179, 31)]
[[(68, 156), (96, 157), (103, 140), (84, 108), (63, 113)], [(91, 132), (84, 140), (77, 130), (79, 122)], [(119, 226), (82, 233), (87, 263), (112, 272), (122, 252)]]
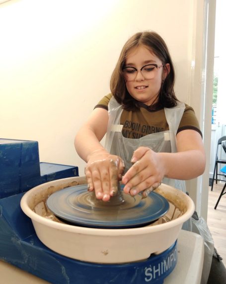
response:
[(142, 199), (119, 190), (109, 201), (96, 199), (87, 185), (79, 185), (51, 194), (48, 208), (59, 218), (74, 225), (92, 228), (135, 228), (150, 224), (162, 217), (169, 203), (162, 195), (151, 192)]

